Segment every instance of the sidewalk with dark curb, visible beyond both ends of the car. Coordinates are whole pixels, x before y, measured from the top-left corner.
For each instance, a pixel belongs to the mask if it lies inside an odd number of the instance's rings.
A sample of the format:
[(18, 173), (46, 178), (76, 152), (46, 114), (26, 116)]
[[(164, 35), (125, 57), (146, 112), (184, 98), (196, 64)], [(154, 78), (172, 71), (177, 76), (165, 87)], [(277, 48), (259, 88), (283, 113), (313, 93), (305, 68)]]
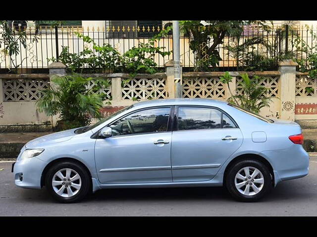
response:
[[(317, 152), (317, 129), (302, 129), (304, 134), (304, 149), (307, 152)], [(28, 141), (52, 132), (0, 133), (0, 159), (16, 158), (21, 148)]]

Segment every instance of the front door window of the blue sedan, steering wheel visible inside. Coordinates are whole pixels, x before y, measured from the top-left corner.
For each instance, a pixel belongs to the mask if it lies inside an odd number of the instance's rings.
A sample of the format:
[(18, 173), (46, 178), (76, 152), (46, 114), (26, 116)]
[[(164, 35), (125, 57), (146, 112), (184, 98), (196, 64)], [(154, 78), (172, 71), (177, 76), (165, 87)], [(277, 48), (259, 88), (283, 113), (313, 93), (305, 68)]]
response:
[(167, 131), (170, 108), (135, 112), (110, 125), (112, 136)]

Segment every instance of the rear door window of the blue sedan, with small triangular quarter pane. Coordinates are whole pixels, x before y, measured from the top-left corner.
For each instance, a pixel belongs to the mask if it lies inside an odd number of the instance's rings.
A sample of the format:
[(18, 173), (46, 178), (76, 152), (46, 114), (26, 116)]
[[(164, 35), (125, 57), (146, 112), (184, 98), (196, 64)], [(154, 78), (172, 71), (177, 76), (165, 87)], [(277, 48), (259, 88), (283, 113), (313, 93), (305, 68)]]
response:
[(178, 130), (234, 127), (236, 126), (233, 121), (219, 110), (201, 107), (178, 108)]

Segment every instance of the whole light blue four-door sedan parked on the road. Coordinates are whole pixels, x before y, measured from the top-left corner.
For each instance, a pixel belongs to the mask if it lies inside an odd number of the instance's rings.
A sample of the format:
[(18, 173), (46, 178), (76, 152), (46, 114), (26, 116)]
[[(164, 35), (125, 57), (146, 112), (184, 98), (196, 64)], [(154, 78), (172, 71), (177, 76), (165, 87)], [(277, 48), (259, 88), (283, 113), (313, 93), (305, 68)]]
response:
[(12, 165), (21, 188), (60, 202), (109, 188), (224, 186), (241, 201), (308, 174), (301, 127), (211, 99), (136, 103), (98, 123), (28, 142)]

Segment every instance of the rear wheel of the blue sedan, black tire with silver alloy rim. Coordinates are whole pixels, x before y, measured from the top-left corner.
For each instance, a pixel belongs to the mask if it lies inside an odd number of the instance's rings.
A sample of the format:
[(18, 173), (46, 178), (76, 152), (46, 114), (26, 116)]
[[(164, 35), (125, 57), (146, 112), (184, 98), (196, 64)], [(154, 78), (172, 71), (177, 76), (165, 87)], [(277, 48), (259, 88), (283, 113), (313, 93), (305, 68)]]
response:
[(257, 160), (241, 160), (226, 175), (226, 188), (239, 201), (257, 201), (271, 188), (267, 166)]

